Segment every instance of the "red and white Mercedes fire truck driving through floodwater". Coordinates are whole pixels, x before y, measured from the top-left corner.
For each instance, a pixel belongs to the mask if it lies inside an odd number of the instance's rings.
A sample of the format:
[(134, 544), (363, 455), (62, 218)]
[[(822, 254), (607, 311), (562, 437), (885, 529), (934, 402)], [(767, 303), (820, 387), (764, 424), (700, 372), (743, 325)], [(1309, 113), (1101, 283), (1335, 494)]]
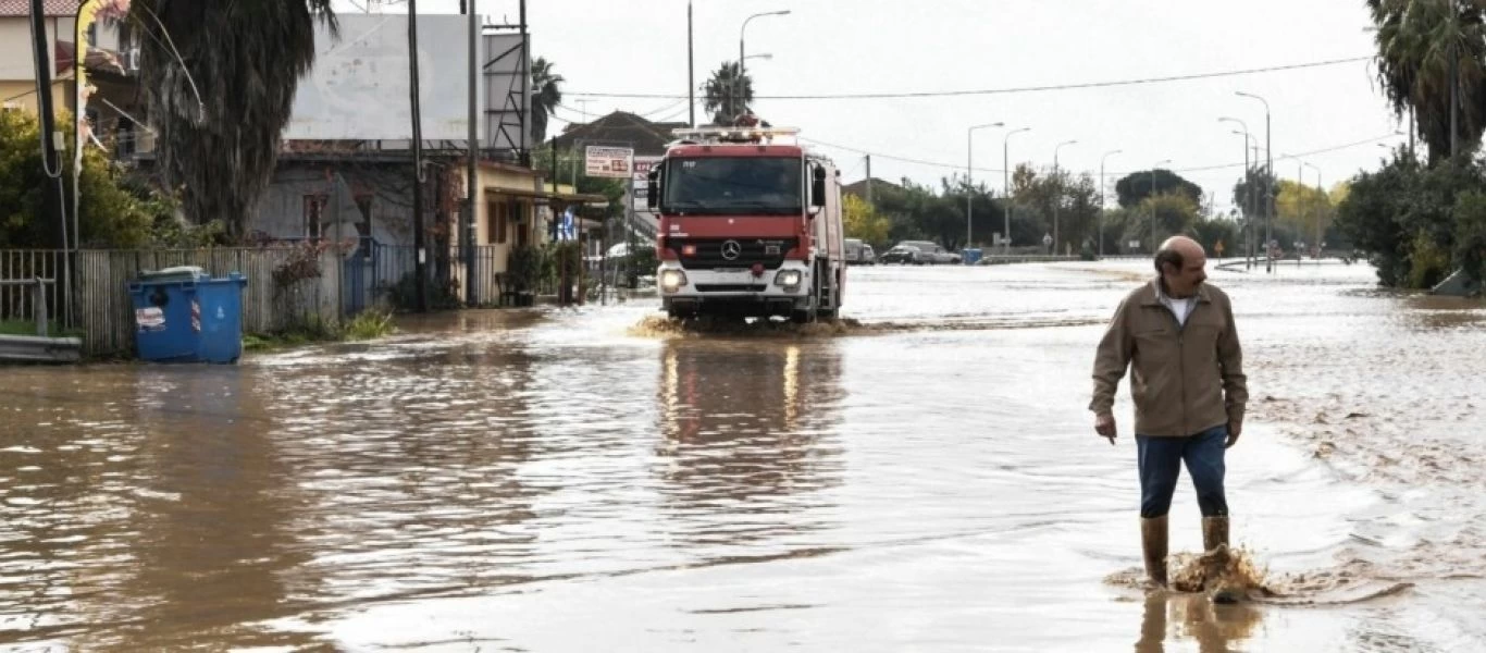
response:
[(798, 129), (676, 129), (649, 174), (661, 305), (694, 315), (835, 318), (846, 286), (841, 184)]

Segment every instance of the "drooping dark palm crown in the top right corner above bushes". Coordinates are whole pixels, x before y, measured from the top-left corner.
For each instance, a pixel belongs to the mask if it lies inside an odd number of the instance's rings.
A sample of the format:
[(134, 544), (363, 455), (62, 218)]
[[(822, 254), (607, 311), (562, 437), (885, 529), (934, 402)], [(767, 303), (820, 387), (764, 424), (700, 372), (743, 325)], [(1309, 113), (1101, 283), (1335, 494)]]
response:
[[(1486, 129), (1480, 4), (1480, 0), (1367, 0), (1376, 27), (1378, 82), (1398, 118), (1415, 113), (1431, 165), (1450, 156), (1452, 135), (1468, 152)], [(1453, 97), (1452, 79), (1458, 79)]]

